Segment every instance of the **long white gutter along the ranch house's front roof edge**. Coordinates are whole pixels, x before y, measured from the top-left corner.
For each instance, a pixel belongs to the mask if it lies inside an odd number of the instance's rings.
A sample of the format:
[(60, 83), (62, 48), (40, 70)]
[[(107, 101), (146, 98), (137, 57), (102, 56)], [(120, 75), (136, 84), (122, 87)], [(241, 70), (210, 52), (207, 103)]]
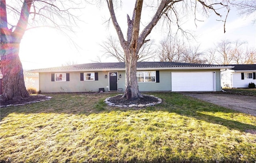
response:
[[(216, 66), (216, 67), (143, 67), (137, 70), (199, 70), (199, 69), (232, 69), (234, 66)], [(125, 71), (125, 68), (108, 69), (67, 69), (67, 70), (29, 70), (31, 73), (50, 73), (50, 72), (90, 72), (90, 71)]]

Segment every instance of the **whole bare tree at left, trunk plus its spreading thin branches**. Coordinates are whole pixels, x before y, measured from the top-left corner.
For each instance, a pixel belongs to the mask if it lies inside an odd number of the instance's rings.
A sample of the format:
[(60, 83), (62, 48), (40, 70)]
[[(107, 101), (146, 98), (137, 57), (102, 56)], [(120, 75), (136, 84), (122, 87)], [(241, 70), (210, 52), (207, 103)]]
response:
[[(78, 6), (74, 1), (56, 0), (0, 0), (0, 43), (4, 93), (1, 100), (19, 100), (29, 96), (26, 91), (22, 64), (19, 58), (20, 42), (27, 29), (38, 26), (72, 31), (78, 20), (71, 12)], [(66, 4), (64, 4), (66, 3)], [(16, 22), (7, 20), (7, 14)], [(10, 18), (8, 17), (8, 18)], [(29, 21), (30, 20), (30, 21)], [(29, 24), (28, 22), (32, 22)]]

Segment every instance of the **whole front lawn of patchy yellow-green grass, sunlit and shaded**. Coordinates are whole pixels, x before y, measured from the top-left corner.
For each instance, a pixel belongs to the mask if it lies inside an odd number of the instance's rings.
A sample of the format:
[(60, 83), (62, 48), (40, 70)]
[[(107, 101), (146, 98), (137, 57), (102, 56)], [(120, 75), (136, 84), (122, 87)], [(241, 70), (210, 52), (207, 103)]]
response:
[(256, 117), (173, 92), (163, 103), (111, 108), (116, 94), (50, 94), (1, 108), (1, 163), (255, 163)]

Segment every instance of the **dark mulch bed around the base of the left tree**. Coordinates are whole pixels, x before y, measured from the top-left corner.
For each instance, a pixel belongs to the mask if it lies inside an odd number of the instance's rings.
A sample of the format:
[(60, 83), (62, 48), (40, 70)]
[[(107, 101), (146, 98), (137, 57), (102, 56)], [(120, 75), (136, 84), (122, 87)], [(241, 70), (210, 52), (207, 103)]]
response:
[(2, 102), (1, 100), (1, 106), (6, 105), (18, 105), (18, 104), (25, 104), (26, 102), (32, 102), (32, 101), (40, 101), (40, 100), (47, 100), (47, 96), (41, 96), (41, 95), (35, 95), (35, 96), (29, 96), (28, 98), (24, 98), (22, 100), (8, 100)]

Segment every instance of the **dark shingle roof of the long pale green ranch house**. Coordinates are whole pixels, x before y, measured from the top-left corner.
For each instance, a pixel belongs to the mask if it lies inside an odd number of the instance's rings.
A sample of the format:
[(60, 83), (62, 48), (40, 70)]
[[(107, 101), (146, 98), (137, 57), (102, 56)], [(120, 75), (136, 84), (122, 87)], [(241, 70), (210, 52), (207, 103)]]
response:
[[(138, 62), (137, 68), (168, 68), (168, 67), (222, 67), (226, 65), (208, 65), (198, 63), (177, 63), (177, 62)], [(85, 63), (80, 65), (70, 65), (62, 67), (51, 67), (46, 69), (36, 69), (32, 71), (56, 71), (56, 70), (90, 70), (90, 69), (124, 69), (124, 62), (118, 63)]]

